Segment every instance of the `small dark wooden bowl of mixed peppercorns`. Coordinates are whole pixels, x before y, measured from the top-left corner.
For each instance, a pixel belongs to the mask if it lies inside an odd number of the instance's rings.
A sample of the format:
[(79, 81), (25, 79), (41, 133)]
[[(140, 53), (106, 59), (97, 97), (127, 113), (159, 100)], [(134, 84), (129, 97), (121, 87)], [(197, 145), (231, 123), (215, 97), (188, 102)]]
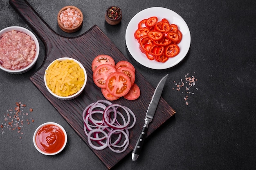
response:
[(122, 20), (122, 11), (117, 6), (108, 7), (105, 14), (105, 20), (110, 25), (117, 25)]

